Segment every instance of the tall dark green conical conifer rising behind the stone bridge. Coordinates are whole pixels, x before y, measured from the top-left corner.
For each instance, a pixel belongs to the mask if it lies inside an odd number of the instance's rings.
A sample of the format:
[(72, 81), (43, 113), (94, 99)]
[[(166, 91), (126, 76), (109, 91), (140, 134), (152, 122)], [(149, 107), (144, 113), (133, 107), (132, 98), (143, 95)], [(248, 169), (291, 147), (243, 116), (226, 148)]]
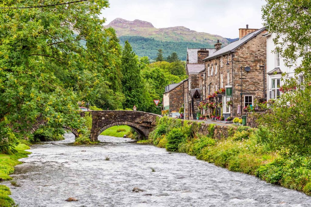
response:
[(144, 85), (141, 76), (138, 57), (132, 51), (131, 45), (125, 41), (125, 46), (122, 52), (122, 86), (125, 95), (124, 108), (132, 108), (136, 105), (138, 110), (143, 110), (144, 100), (143, 92)]

